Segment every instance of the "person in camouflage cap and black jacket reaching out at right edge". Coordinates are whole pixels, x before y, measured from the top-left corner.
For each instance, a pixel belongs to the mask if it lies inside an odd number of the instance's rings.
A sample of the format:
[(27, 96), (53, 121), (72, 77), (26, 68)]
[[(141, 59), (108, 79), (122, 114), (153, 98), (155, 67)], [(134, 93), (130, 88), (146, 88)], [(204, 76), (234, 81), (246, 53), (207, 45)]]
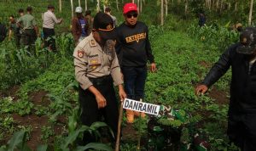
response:
[(240, 42), (226, 50), (196, 87), (204, 94), (227, 70), (232, 69), (228, 136), (242, 151), (256, 149), (256, 28), (241, 31)]

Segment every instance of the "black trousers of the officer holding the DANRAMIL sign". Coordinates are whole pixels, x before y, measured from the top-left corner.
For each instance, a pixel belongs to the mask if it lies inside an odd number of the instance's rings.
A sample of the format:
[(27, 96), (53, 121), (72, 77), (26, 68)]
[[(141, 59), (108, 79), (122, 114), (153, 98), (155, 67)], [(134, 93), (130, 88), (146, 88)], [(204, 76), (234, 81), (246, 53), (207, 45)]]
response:
[[(79, 87), (79, 104), (82, 111), (80, 120), (85, 126), (90, 126), (93, 122), (101, 121), (103, 115), (105, 122), (113, 130), (113, 135), (116, 137), (119, 118), (118, 103), (115, 97), (111, 76), (103, 78), (98, 78), (98, 80), (93, 79), (92, 82), (93, 86), (106, 98), (107, 106), (103, 109), (98, 109), (95, 95), (88, 89), (84, 91)], [(84, 133), (84, 143), (95, 141), (95, 137), (91, 136), (89, 133)]]

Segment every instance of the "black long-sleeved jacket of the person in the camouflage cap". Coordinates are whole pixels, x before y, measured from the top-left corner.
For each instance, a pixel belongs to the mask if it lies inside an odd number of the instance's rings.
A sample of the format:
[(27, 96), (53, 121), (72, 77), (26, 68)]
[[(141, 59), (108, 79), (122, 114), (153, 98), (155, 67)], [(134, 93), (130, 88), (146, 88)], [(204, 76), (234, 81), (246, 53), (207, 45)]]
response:
[(248, 56), (236, 53), (239, 45), (232, 45), (221, 55), (202, 83), (211, 87), (231, 66), (230, 112), (256, 113), (256, 62), (249, 74)]

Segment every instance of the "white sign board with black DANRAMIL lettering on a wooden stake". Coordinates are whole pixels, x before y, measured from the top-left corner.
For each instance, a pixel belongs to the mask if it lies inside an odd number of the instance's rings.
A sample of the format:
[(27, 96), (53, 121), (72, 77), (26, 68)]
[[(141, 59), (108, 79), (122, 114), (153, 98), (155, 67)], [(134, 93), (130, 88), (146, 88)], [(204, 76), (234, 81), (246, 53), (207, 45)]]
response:
[(123, 108), (143, 112), (149, 115), (158, 115), (160, 105), (155, 105), (152, 103), (143, 103), (136, 100), (125, 98)]

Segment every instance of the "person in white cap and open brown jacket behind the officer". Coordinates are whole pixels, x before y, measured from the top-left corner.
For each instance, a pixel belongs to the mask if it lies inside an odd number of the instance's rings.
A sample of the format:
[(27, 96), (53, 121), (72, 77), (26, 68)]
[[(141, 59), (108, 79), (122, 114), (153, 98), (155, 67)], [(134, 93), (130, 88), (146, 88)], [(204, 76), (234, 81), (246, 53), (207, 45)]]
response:
[(90, 35), (90, 25), (82, 14), (83, 8), (77, 7), (75, 12), (77, 16), (72, 19), (72, 34), (77, 46), (86, 36)]

